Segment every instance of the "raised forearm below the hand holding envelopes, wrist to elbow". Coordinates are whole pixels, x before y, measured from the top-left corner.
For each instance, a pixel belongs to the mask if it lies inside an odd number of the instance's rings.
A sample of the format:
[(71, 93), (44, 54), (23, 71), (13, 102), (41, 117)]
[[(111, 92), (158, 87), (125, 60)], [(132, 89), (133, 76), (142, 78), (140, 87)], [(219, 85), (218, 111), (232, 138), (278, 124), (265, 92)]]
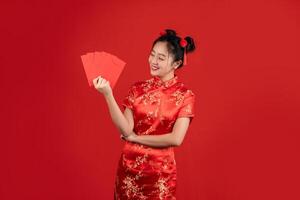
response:
[(109, 113), (113, 123), (116, 125), (116, 127), (120, 130), (120, 132), (123, 135), (125, 136), (129, 135), (130, 134), (129, 123), (125, 118), (124, 114), (122, 113), (122, 111), (120, 110), (120, 107), (117, 104), (113, 96), (113, 93), (104, 95), (104, 98), (108, 105)]

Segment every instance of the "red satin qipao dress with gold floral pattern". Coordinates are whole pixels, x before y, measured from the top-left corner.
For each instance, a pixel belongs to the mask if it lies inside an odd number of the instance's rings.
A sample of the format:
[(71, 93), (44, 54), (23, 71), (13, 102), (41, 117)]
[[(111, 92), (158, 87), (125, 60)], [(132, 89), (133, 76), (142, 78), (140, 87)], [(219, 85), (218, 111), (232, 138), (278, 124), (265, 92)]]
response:
[[(157, 76), (135, 82), (123, 100), (132, 109), (137, 135), (172, 132), (179, 117), (194, 117), (194, 93), (175, 75), (164, 82)], [(125, 141), (118, 164), (114, 199), (176, 199), (174, 147), (150, 147)]]

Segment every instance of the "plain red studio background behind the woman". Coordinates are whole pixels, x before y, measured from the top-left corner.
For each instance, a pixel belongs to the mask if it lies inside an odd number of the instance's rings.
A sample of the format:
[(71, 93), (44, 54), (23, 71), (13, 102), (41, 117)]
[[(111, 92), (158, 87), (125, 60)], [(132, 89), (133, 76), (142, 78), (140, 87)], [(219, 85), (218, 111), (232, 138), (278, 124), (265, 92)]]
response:
[(178, 73), (197, 96), (176, 148), (178, 199), (300, 199), (299, 1), (1, 2), (0, 199), (112, 199), (123, 141), (80, 55), (149, 78), (165, 28), (197, 45)]

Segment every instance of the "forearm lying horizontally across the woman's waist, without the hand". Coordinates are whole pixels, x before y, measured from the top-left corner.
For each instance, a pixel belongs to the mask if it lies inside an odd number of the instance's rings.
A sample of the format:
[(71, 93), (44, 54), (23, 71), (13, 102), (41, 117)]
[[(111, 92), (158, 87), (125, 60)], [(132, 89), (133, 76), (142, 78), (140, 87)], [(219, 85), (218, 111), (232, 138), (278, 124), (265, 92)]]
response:
[(167, 133), (162, 135), (138, 135), (134, 142), (148, 145), (151, 147), (169, 147), (178, 146), (174, 134)]

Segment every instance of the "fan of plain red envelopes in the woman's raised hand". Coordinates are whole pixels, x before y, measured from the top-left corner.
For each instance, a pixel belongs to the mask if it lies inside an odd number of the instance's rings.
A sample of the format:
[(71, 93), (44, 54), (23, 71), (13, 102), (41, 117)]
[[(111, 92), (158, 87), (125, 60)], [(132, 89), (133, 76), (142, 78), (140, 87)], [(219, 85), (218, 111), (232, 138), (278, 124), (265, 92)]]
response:
[(93, 86), (93, 79), (102, 76), (114, 88), (126, 64), (117, 56), (104, 51), (87, 53), (81, 56), (81, 60), (90, 87)]

